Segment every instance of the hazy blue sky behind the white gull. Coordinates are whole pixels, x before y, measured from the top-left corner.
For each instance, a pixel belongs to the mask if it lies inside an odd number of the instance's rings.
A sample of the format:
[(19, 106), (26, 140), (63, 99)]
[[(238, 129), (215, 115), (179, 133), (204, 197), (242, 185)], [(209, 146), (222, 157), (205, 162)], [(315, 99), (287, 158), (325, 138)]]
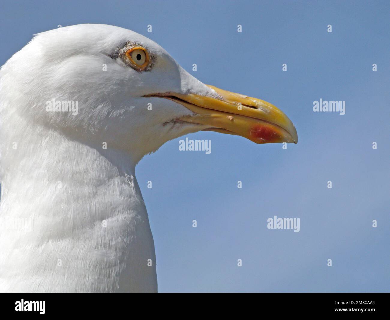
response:
[[(202, 82), (269, 101), (294, 122), (298, 144), (287, 150), (198, 132), (188, 137), (211, 139), (211, 154), (180, 152), (179, 138), (138, 164), (160, 292), (390, 291), (388, 1), (0, 6), (0, 64), (57, 25), (117, 25)], [(346, 114), (314, 113), (320, 98), (345, 100)], [(274, 215), (300, 218), (300, 232), (267, 229)]]

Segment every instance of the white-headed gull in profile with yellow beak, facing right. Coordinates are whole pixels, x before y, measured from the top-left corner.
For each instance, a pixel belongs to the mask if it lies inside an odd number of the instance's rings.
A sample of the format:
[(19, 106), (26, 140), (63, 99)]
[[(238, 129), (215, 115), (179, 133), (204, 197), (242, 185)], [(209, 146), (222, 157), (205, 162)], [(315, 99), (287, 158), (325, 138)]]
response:
[(298, 141), (277, 107), (203, 84), (136, 32), (35, 34), (0, 70), (0, 291), (156, 292), (135, 166), (201, 130)]

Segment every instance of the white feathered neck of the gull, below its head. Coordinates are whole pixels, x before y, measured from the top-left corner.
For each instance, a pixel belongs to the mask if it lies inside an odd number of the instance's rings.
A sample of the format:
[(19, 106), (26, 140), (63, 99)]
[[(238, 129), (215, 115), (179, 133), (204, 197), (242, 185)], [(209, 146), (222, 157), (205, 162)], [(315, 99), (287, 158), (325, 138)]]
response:
[(4, 127), (12, 134), (2, 137), (0, 212), (10, 223), (0, 235), (0, 274), (18, 270), (5, 286), (155, 291), (153, 238), (131, 155), (23, 122)]

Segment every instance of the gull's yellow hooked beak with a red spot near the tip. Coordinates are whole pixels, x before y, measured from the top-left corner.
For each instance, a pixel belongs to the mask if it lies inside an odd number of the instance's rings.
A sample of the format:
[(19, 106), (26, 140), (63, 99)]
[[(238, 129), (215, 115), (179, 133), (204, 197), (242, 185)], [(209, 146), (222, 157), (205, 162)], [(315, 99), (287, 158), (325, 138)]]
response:
[(209, 125), (209, 131), (236, 134), (255, 143), (297, 143), (298, 135), (291, 120), (269, 102), (208, 86), (219, 97), (189, 93), (166, 93), (169, 98), (195, 113), (182, 121)]

